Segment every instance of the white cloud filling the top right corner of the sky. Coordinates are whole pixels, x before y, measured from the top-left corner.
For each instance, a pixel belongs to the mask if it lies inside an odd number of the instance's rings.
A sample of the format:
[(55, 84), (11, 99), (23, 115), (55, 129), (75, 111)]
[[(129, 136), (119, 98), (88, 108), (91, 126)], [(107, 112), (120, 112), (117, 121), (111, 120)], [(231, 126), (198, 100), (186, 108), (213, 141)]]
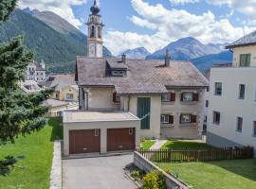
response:
[(230, 9), (236, 9), (250, 18), (256, 19), (256, 0), (207, 0), (212, 5), (227, 5)]

